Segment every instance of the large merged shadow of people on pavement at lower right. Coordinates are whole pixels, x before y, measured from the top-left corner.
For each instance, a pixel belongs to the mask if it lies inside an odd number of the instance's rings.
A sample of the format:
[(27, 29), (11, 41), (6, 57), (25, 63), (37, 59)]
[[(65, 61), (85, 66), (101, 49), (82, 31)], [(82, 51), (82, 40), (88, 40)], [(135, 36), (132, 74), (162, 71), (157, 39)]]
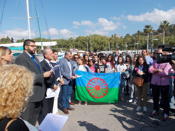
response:
[(175, 117), (171, 117), (167, 121), (162, 121), (162, 117), (150, 117), (151, 103), (148, 103), (147, 113), (136, 113), (136, 104), (121, 102), (111, 109), (111, 114), (120, 122), (126, 131), (174, 131)]

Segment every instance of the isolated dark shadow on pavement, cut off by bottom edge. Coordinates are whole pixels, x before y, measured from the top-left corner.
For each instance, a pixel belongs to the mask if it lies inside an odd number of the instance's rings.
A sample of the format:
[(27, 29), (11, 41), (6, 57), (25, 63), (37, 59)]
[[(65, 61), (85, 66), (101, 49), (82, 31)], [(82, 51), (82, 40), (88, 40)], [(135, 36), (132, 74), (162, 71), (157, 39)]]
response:
[(89, 123), (87, 121), (78, 121), (78, 124), (80, 126), (84, 126), (87, 131), (109, 131), (107, 129), (101, 129), (101, 128), (99, 128), (99, 127), (95, 126), (94, 124)]

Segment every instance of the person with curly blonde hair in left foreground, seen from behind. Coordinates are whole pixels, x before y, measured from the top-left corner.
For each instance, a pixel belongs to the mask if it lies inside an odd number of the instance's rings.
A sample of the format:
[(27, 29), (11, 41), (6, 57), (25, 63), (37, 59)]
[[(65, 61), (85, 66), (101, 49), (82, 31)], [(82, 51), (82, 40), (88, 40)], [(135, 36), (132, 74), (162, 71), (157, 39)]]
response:
[(0, 131), (29, 131), (20, 115), (32, 95), (34, 74), (15, 64), (2, 65), (0, 72)]

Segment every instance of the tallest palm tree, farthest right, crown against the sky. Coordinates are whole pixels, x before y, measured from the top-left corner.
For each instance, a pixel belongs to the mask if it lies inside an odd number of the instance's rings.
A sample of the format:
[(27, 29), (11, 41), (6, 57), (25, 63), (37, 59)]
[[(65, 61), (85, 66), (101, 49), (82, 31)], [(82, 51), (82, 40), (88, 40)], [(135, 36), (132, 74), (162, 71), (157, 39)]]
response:
[(165, 33), (166, 33), (167, 29), (169, 28), (169, 25), (170, 25), (170, 23), (168, 21), (166, 21), (166, 20), (164, 20), (164, 21), (162, 21), (160, 23), (160, 27), (159, 28), (160, 28), (160, 30), (163, 31), (163, 34), (162, 34), (163, 45), (165, 44)]

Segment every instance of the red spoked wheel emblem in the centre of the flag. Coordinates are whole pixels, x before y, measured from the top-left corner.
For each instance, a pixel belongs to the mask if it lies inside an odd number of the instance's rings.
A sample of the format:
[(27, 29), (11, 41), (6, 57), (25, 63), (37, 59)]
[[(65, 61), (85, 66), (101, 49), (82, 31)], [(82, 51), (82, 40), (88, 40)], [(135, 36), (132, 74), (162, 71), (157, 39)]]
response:
[(101, 78), (90, 79), (86, 88), (93, 98), (103, 98), (108, 93), (108, 84)]

